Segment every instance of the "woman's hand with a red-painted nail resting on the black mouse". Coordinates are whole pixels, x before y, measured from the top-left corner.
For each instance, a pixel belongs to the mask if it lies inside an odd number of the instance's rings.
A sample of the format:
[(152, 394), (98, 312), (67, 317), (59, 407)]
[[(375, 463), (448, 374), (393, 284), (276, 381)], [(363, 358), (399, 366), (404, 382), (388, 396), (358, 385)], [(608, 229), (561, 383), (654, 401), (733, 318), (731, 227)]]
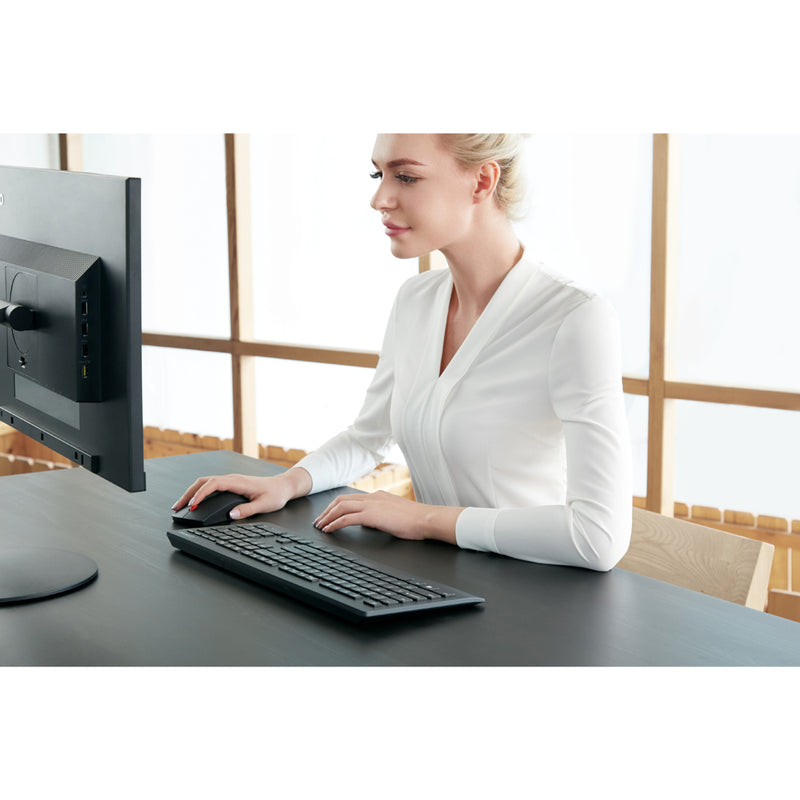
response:
[(236, 506), (231, 511), (233, 519), (244, 519), (253, 514), (266, 514), (283, 508), (295, 497), (311, 491), (311, 476), (302, 467), (294, 467), (273, 477), (255, 475), (215, 475), (198, 478), (181, 495), (173, 511), (188, 505), (200, 505), (212, 492), (234, 492), (244, 495), (249, 502)]

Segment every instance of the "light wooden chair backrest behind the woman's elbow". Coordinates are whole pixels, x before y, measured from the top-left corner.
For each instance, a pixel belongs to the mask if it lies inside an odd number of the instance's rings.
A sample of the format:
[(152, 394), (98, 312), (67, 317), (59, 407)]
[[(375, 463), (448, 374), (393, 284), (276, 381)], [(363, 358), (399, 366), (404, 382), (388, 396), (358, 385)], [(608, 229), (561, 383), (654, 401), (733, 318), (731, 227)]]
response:
[(633, 509), (628, 552), (618, 567), (763, 611), (774, 545)]

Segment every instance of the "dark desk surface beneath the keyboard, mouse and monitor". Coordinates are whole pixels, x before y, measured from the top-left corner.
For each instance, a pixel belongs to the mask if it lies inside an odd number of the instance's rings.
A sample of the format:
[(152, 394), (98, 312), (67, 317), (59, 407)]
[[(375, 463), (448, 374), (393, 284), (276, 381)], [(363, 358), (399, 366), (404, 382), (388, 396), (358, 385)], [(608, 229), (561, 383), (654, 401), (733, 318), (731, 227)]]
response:
[[(334, 538), (367, 558), (486, 598), (480, 607), (353, 626), (174, 550), (170, 506), (198, 475), (280, 468), (216, 452), (146, 462), (146, 492), (80, 469), (0, 479), (3, 547), (77, 550), (96, 581), (0, 608), (3, 665), (800, 665), (800, 625), (612, 570), (594, 573), (405, 542), (362, 528)], [(336, 492), (294, 501), (312, 521)]]

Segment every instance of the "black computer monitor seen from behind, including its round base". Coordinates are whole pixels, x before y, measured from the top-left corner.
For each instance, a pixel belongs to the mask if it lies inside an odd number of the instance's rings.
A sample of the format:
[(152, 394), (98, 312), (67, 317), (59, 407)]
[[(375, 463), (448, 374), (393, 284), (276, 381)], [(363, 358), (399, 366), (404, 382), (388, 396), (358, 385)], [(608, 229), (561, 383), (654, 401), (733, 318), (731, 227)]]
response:
[[(0, 166), (0, 323), (0, 422), (143, 491), (138, 178)], [(80, 554), (0, 549), (0, 603), (96, 574)]]

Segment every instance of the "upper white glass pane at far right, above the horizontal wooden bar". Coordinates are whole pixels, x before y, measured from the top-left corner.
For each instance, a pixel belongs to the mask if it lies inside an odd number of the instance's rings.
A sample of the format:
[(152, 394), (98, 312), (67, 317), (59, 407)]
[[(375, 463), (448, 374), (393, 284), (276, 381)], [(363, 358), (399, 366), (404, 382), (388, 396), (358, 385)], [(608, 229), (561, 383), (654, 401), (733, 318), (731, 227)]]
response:
[(800, 136), (680, 145), (676, 377), (800, 391)]

